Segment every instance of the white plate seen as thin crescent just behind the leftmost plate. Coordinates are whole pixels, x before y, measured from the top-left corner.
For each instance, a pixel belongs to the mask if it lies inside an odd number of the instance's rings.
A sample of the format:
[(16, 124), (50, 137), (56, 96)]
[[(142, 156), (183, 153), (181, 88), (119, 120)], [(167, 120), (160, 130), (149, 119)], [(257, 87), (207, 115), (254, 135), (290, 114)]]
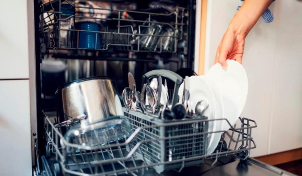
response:
[[(221, 95), (219, 88), (209, 77), (207, 77), (207, 76), (201, 76), (201, 77), (210, 86), (211, 91), (214, 95), (215, 104), (216, 104), (215, 119), (223, 118), (224, 106), (223, 106), (223, 101), (222, 101), (222, 95)], [(222, 129), (222, 120), (215, 120), (215, 121), (213, 121), (213, 124), (214, 124), (213, 125), (214, 131), (220, 131)], [(211, 154), (214, 152), (215, 148), (217, 147), (217, 145), (220, 141), (221, 134), (222, 134), (222, 132), (212, 133), (210, 142), (209, 142), (209, 146), (207, 149), (207, 154)]]

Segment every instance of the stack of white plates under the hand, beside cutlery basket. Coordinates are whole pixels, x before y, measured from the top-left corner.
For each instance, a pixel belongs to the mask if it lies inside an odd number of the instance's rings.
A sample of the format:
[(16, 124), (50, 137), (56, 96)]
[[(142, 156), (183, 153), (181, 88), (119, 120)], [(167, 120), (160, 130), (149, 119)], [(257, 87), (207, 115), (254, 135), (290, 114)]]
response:
[[(209, 103), (204, 116), (208, 119), (226, 118), (230, 123), (226, 120), (209, 121), (209, 132), (228, 130), (230, 125), (234, 125), (246, 101), (248, 79), (243, 66), (233, 60), (227, 60), (227, 64), (226, 71), (217, 63), (205, 75), (189, 77), (190, 101), (193, 107), (200, 100), (204, 100)], [(179, 89), (180, 97), (182, 97), (182, 89), (183, 85)], [(207, 154), (214, 152), (221, 134), (222, 132), (208, 134)]]

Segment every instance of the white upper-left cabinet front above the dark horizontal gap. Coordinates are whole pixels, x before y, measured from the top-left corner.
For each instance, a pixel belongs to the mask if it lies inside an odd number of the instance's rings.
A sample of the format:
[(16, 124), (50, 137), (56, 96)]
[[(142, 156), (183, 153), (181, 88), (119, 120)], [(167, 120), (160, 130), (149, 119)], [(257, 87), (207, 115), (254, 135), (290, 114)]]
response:
[(0, 79), (29, 78), (27, 1), (5, 1), (0, 16)]

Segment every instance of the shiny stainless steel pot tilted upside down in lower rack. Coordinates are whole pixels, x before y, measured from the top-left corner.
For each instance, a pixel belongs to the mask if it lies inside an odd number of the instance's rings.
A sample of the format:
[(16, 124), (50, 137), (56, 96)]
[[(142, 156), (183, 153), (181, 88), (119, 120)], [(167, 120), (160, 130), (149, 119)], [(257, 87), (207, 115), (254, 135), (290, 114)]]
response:
[(84, 124), (123, 115), (115, 81), (90, 77), (64, 85), (56, 91), (59, 121), (86, 115)]

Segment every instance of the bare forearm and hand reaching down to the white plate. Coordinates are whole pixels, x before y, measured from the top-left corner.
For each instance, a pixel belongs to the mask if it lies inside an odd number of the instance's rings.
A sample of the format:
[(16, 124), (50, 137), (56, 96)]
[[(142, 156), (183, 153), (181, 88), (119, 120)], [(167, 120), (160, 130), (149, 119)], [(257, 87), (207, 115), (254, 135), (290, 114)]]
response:
[(245, 0), (232, 18), (217, 48), (215, 63), (227, 69), (226, 59), (242, 62), (245, 37), (273, 0)]

